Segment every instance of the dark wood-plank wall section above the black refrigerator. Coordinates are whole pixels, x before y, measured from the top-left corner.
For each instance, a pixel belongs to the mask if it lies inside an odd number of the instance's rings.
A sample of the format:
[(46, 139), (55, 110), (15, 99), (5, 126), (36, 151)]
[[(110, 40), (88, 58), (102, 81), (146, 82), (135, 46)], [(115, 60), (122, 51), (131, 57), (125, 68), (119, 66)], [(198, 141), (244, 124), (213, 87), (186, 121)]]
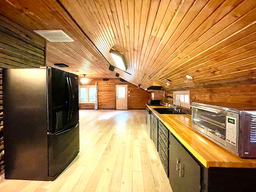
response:
[(38, 68), (45, 65), (45, 40), (0, 14), (0, 66)]

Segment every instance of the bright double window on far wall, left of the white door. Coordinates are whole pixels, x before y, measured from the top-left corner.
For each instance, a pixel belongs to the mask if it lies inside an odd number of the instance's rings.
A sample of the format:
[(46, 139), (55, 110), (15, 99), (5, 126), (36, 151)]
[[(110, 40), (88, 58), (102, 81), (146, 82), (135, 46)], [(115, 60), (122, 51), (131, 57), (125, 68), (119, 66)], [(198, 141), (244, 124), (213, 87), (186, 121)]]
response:
[(94, 103), (96, 95), (95, 86), (79, 86), (79, 102)]

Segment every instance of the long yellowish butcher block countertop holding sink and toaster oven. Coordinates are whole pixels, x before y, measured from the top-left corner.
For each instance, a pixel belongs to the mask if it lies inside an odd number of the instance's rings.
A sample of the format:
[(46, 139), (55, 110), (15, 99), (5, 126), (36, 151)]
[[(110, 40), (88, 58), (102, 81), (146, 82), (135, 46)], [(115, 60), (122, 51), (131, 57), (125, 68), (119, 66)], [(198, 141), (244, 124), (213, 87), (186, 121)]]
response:
[(158, 114), (154, 108), (165, 106), (146, 106), (206, 168), (256, 168), (256, 159), (242, 159), (192, 130), (190, 115)]

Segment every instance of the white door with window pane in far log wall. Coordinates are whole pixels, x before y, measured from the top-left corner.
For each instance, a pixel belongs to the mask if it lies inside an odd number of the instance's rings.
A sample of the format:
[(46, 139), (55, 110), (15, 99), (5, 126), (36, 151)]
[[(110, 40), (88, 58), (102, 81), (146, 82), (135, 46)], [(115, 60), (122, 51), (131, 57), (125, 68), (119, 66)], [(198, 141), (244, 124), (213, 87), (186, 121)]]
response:
[(127, 110), (127, 84), (116, 85), (116, 110)]

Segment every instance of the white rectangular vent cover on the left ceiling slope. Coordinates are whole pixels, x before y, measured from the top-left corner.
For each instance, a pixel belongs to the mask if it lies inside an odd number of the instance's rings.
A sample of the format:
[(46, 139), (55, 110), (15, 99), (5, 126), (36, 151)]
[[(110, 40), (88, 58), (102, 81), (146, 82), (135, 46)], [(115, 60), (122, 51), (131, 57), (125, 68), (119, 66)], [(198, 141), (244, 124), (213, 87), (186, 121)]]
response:
[(50, 42), (70, 42), (74, 41), (62, 30), (34, 30), (38, 35)]

